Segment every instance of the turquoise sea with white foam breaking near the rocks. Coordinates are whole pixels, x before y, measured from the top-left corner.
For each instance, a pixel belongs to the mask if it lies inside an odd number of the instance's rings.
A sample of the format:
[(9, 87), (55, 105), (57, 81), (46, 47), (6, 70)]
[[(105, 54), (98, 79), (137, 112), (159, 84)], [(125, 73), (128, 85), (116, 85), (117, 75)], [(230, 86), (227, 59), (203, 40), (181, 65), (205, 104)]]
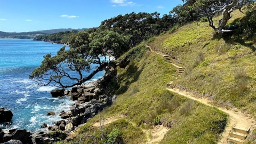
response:
[[(31, 39), (0, 38), (0, 107), (13, 113), (12, 122), (0, 123), (1, 129), (39, 131), (43, 123), (53, 125), (61, 119), (58, 115), (47, 116), (49, 111), (58, 114), (61, 110), (69, 110), (74, 103), (69, 97), (52, 98), (50, 91), (55, 89), (53, 85), (42, 87), (29, 79), (31, 72), (41, 64), (43, 55), (55, 55), (60, 47), (60, 44)], [(102, 75), (103, 71), (92, 80)]]

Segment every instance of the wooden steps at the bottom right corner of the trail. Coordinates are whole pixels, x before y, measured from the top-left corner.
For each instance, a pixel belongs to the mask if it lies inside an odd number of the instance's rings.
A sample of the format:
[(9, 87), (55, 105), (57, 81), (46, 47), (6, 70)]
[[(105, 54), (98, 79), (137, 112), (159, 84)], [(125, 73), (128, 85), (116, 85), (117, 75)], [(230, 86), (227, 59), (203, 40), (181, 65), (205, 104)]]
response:
[(233, 126), (232, 131), (229, 133), (228, 141), (234, 143), (244, 143), (244, 140), (247, 138), (247, 134), (250, 132), (250, 128), (248, 129), (241, 129), (236, 125)]

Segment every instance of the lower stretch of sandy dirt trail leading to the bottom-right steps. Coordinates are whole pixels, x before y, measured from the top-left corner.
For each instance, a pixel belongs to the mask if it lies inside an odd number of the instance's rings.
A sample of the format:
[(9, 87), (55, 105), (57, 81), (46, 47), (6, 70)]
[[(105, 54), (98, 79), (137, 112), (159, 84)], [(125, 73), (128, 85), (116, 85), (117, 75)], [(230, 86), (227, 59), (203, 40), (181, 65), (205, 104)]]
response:
[[(185, 91), (180, 91), (179, 89), (167, 89), (170, 90), (174, 93), (178, 93), (184, 97), (187, 97), (189, 99), (193, 99), (196, 101), (199, 101), (201, 103), (204, 103), (207, 106), (210, 107), (215, 107), (213, 105), (210, 104), (210, 100), (206, 99), (206, 98), (196, 98), (194, 94), (191, 94), (189, 92), (185, 92)], [(251, 127), (251, 131), (255, 128), (255, 120), (247, 115), (247, 114), (243, 114), (240, 110), (238, 109), (226, 109), (226, 108), (220, 108), (220, 107), (216, 107), (219, 110), (223, 111), (224, 113), (229, 115), (229, 122), (225, 128), (225, 131), (222, 133), (222, 138), (221, 140), (218, 142), (220, 144), (222, 143), (228, 143), (227, 138), (229, 136), (229, 132), (231, 131), (232, 127), (236, 124), (236, 127), (239, 127), (241, 129), (245, 129), (247, 130), (249, 127)]]

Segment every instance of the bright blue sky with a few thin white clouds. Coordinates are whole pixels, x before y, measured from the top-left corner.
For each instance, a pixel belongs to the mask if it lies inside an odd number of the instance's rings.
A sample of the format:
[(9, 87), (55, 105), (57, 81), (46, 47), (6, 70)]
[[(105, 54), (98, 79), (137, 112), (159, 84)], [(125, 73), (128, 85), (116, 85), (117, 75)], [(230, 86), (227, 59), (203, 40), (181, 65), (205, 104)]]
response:
[(131, 12), (169, 14), (181, 0), (0, 0), (0, 31), (91, 28)]

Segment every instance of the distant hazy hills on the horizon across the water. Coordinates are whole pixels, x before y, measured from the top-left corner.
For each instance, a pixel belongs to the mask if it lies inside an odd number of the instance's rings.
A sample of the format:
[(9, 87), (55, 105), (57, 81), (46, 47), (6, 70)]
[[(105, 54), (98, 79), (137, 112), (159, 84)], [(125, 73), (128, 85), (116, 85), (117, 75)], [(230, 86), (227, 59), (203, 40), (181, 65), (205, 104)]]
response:
[(59, 33), (60, 31), (72, 31), (78, 30), (83, 31), (87, 28), (82, 29), (71, 29), (71, 28), (62, 28), (62, 29), (49, 29), (49, 30), (38, 30), (38, 31), (29, 31), (29, 32), (21, 32), (21, 33), (8, 33), (4, 31), (0, 31), (0, 38), (20, 38), (20, 39), (33, 39), (38, 35), (47, 35), (53, 33)]

